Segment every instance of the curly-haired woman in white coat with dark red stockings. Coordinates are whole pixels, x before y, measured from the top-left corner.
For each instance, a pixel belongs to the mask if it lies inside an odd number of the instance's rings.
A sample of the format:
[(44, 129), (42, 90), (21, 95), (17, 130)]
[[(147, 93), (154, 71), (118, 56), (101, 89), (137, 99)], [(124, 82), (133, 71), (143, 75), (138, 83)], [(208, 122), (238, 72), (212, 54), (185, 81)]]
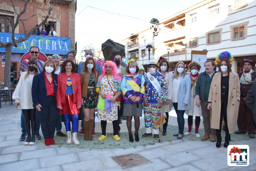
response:
[(184, 135), (189, 135), (192, 133), (192, 125), (193, 125), (193, 116), (195, 116), (195, 136), (197, 138), (200, 138), (200, 134), (198, 133), (198, 129), (199, 129), (199, 125), (200, 125), (200, 121), (201, 121), (201, 116), (202, 116), (202, 111), (201, 111), (201, 107), (198, 108), (195, 105), (195, 85), (196, 85), (196, 81), (197, 78), (199, 76), (198, 71), (201, 69), (201, 65), (198, 64), (197, 62), (191, 62), (189, 64), (189, 70), (191, 71), (191, 73), (189, 73), (188, 75), (190, 76), (191, 79), (191, 109), (187, 110), (187, 115), (188, 115), (188, 125), (189, 125), (189, 130), (184, 133)]

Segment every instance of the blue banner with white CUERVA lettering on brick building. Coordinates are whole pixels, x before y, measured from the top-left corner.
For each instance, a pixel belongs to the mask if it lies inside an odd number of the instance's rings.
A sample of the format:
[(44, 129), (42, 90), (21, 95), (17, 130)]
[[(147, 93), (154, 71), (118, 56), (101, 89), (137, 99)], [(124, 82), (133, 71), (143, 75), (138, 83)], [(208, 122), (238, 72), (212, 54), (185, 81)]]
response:
[[(25, 37), (24, 34), (15, 34), (15, 39), (19, 39), (20, 36)], [(12, 34), (0, 32), (0, 41), (12, 42)], [(28, 40), (18, 43), (18, 47), (12, 46), (12, 53), (26, 53), (31, 46), (39, 47), (40, 51), (45, 54), (61, 55), (71, 51), (70, 38), (31, 35)], [(5, 52), (5, 48), (1, 47), (0, 52)]]

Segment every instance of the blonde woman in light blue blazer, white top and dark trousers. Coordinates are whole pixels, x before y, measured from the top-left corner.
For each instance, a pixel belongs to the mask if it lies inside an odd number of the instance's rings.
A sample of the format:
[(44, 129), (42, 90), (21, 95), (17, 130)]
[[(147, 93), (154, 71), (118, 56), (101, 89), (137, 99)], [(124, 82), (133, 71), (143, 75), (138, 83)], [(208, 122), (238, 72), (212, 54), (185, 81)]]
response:
[(185, 71), (185, 64), (178, 62), (175, 68), (173, 77), (173, 89), (172, 89), (172, 102), (175, 112), (177, 114), (179, 132), (173, 136), (177, 136), (177, 139), (181, 139), (184, 134), (184, 113), (186, 110), (191, 109), (191, 79)]

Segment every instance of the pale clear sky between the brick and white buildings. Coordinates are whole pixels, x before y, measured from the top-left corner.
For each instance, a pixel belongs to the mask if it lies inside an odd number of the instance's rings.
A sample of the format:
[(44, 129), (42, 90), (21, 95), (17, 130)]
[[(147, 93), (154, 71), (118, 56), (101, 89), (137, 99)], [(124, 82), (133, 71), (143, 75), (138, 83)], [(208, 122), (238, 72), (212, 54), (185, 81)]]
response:
[[(163, 20), (202, 0), (77, 0), (75, 41), (77, 54), (87, 44), (101, 49), (101, 44), (111, 39), (120, 42), (131, 34), (150, 27), (150, 20)], [(107, 10), (110, 14), (90, 7)], [(86, 8), (84, 11), (82, 11)], [(82, 11), (82, 12), (81, 12)], [(81, 13), (80, 13), (81, 12)], [(80, 13), (80, 14), (79, 14)]]

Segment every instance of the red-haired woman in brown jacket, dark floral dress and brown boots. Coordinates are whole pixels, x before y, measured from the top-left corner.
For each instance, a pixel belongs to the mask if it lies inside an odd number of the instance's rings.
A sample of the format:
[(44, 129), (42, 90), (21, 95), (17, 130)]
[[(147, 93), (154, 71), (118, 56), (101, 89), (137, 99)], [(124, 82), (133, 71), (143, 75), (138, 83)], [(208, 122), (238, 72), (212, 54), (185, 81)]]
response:
[(92, 128), (94, 112), (97, 107), (96, 84), (99, 74), (96, 72), (96, 64), (92, 57), (88, 57), (84, 63), (84, 70), (80, 73), (82, 87), (82, 108), (84, 113), (84, 139), (92, 141)]

